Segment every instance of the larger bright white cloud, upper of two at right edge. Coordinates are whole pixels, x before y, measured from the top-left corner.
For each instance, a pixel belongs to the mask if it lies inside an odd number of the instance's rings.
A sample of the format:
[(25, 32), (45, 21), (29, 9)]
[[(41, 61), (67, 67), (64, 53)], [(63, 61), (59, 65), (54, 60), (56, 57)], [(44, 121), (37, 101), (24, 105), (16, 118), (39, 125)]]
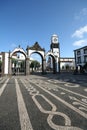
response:
[(83, 38), (85, 33), (87, 33), (87, 25), (76, 30), (72, 34), (72, 37)]

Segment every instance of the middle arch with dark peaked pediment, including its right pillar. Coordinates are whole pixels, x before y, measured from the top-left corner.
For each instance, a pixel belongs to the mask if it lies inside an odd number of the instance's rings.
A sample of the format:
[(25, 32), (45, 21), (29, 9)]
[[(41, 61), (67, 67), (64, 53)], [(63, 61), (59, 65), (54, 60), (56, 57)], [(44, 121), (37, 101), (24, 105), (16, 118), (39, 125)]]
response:
[(38, 42), (35, 42), (35, 44), (32, 47), (27, 47), (27, 55), (30, 59), (30, 56), (33, 53), (37, 53), (41, 56), (42, 59), (42, 73), (44, 74), (46, 71), (46, 59), (45, 59), (45, 49), (41, 48)]

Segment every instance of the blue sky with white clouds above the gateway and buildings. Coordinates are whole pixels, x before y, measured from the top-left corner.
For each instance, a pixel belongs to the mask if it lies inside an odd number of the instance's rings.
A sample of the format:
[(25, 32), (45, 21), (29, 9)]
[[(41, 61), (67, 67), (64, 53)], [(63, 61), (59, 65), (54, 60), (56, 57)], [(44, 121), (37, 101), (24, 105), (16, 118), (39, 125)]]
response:
[(61, 57), (87, 45), (87, 0), (0, 0), (0, 52), (36, 41), (47, 52), (53, 34)]

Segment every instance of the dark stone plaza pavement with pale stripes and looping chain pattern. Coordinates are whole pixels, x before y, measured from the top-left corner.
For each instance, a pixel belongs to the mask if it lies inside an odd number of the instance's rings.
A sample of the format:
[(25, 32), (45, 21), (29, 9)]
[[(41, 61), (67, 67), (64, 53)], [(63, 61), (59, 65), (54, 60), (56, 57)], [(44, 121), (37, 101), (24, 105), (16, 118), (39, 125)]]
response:
[(0, 130), (87, 130), (87, 76), (0, 78)]

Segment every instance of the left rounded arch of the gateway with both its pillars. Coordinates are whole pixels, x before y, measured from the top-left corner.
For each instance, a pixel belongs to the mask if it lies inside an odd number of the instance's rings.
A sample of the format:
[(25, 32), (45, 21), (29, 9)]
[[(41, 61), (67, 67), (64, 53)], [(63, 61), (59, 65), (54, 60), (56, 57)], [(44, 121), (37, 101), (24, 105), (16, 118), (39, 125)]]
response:
[[(8, 73), (9, 73), (9, 75), (12, 75), (12, 56), (17, 54), (17, 53), (21, 53), (21, 54), (24, 55), (24, 58), (25, 58), (24, 74), (28, 75), (29, 74), (29, 58), (27, 56), (27, 53), (20, 46), (15, 48), (12, 52), (9, 51), (9, 68), (8, 68)], [(19, 57), (17, 57), (17, 58), (19, 58)]]

